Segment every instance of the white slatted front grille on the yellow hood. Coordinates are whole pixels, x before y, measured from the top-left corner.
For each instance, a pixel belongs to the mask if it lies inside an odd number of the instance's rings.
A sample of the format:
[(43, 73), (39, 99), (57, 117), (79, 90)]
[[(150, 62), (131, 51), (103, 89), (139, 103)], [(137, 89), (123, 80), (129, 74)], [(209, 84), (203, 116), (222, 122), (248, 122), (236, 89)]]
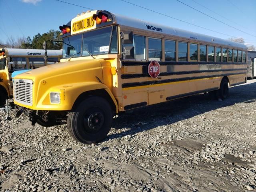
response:
[(32, 106), (33, 81), (30, 79), (14, 79), (14, 100), (20, 104)]

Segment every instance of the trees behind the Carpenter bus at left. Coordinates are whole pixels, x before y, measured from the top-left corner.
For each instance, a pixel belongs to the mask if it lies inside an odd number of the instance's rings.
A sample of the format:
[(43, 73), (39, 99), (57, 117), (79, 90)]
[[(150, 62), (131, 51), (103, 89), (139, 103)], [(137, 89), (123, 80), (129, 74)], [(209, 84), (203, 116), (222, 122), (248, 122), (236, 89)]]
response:
[[(32, 39), (30, 36), (26, 37), (18, 37), (14, 38), (10, 36), (6, 43), (0, 40), (0, 47), (7, 47), (7, 48), (24, 48), (24, 49), (44, 49), (43, 42), (47, 40), (53, 40), (60, 38), (60, 32), (55, 30), (49, 30), (47, 33), (43, 33), (42, 35), (38, 33)], [(47, 44), (47, 49), (62, 49), (61, 43), (52, 43), (49, 42)]]

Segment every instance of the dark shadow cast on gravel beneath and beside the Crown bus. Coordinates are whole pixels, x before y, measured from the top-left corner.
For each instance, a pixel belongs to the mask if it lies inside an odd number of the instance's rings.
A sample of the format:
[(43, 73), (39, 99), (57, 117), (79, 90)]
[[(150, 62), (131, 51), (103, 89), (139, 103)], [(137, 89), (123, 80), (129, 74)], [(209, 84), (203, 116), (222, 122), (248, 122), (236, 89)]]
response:
[(136, 134), (156, 128), (157, 126), (173, 124), (218, 108), (232, 106), (236, 103), (248, 105), (250, 102), (256, 101), (256, 82), (231, 87), (229, 93), (229, 98), (222, 102), (212, 100), (209, 94), (199, 94), (135, 109), (128, 114), (121, 114), (118, 118), (114, 119), (112, 128), (130, 129), (119, 134), (110, 134), (106, 140)]

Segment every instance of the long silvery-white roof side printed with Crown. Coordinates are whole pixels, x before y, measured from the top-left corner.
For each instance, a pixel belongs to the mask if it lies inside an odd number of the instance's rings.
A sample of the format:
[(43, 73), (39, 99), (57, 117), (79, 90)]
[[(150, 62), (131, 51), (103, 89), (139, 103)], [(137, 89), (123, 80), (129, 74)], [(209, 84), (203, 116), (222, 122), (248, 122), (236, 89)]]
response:
[(238, 47), (241, 49), (247, 49), (247, 47), (242, 43), (232, 42), (230, 40), (224, 40), (224, 39), (213, 37), (213, 36), (208, 36), (204, 34), (190, 32), (187, 30), (164, 26), (158, 23), (146, 22), (139, 19), (122, 16), (119, 14), (114, 14), (114, 13), (111, 13), (111, 14), (113, 15), (113, 18), (116, 19), (116, 22), (119, 25), (138, 28), (138, 29), (147, 30), (151, 32), (158, 32), (161, 34), (179, 36), (179, 37), (188, 38), (188, 39), (195, 39), (195, 40), (204, 41), (204, 42), (211, 42), (214, 44), (222, 44), (227, 46)]

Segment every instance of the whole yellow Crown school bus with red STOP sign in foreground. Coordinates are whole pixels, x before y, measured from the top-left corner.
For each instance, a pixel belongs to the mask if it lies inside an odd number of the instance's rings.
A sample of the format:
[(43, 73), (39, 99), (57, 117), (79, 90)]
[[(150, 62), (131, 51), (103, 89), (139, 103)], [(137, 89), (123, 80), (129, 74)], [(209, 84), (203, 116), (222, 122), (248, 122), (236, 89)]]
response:
[(106, 10), (83, 12), (63, 33), (58, 64), (14, 78), (14, 102), (32, 124), (67, 120), (70, 134), (104, 139), (115, 114), (194, 94), (228, 97), (246, 82), (246, 46)]

